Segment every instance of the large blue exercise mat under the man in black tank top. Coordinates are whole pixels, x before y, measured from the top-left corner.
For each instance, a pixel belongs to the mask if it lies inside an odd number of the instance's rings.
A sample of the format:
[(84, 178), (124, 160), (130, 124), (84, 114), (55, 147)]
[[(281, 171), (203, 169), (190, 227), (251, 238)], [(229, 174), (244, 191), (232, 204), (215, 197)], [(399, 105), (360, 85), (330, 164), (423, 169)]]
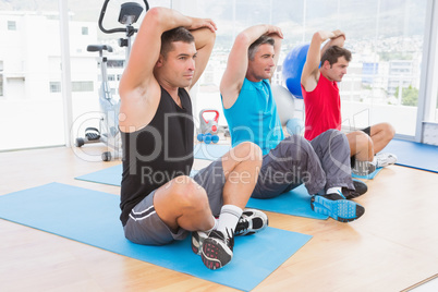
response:
[(275, 228), (238, 236), (232, 261), (212, 271), (192, 252), (190, 236), (165, 246), (127, 241), (119, 220), (119, 203), (117, 195), (50, 183), (0, 196), (0, 218), (245, 291), (312, 239)]

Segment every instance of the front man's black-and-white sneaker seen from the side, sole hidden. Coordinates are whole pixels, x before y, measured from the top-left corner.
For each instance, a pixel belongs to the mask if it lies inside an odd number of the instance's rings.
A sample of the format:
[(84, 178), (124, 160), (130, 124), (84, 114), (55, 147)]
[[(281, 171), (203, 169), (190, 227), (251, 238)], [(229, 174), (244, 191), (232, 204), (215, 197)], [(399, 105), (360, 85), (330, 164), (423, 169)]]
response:
[(235, 227), (234, 235), (251, 235), (260, 232), (268, 226), (268, 216), (256, 209), (244, 209), (238, 226)]

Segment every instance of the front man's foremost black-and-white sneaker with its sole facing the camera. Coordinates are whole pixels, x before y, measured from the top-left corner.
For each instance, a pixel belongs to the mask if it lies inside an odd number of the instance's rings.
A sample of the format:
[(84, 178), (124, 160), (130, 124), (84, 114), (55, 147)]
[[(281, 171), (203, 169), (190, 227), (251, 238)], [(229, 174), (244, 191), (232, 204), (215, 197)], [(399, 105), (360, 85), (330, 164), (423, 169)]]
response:
[(233, 257), (234, 238), (229, 233), (227, 235), (219, 230), (212, 230), (203, 243), (200, 258), (210, 270), (222, 268)]

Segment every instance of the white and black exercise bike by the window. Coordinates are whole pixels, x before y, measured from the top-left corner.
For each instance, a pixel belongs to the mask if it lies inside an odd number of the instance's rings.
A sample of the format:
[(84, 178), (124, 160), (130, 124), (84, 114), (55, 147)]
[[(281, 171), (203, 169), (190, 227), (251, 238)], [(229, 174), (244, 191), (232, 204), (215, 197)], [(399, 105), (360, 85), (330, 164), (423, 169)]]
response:
[[(106, 29), (104, 27), (104, 17), (107, 11), (107, 7), (110, 0), (105, 0), (100, 10), (99, 28), (105, 34), (125, 33), (124, 38), (119, 39), (119, 46), (125, 47), (125, 62), (127, 62), (131, 52), (131, 37), (137, 32), (133, 24), (137, 22), (139, 15), (143, 12), (143, 7), (136, 2), (126, 2), (121, 4), (119, 23), (123, 24), (123, 28)], [(149, 4), (144, 0), (146, 11), (149, 10)], [(105, 51), (112, 52), (112, 47), (109, 45), (89, 45), (87, 47), (89, 52), (98, 52), (98, 64), (100, 66), (101, 85), (99, 88), (99, 106), (101, 111), (101, 118), (99, 120), (99, 130), (96, 127), (85, 129), (85, 137), (77, 137), (75, 141), (76, 147), (82, 147), (85, 144), (90, 143), (104, 143), (112, 151), (105, 151), (101, 154), (104, 161), (110, 161), (112, 159), (119, 159), (122, 156), (122, 143), (119, 131), (119, 112), (120, 100), (114, 98), (111, 93), (111, 88), (108, 82), (108, 58), (105, 56)]]

